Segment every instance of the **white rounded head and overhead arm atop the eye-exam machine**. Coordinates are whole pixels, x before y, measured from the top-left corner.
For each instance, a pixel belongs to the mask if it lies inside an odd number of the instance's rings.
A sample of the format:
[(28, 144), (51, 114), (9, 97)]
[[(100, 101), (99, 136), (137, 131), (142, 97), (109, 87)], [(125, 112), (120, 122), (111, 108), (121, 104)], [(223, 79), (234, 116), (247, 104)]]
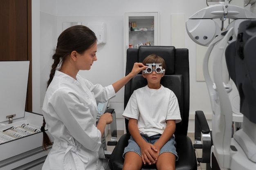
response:
[(220, 4), (210, 5), (197, 11), (186, 21), (186, 31), (191, 40), (202, 46), (209, 46), (216, 36), (223, 31), (213, 20), (218, 18), (222, 24), (227, 18), (234, 19), (226, 28), (227, 30), (234, 27), (234, 38), (229, 39), (230, 42), (236, 38), (238, 25), (244, 20), (256, 19), (256, 15), (241, 7), (228, 4), (227, 0), (220, 2)]

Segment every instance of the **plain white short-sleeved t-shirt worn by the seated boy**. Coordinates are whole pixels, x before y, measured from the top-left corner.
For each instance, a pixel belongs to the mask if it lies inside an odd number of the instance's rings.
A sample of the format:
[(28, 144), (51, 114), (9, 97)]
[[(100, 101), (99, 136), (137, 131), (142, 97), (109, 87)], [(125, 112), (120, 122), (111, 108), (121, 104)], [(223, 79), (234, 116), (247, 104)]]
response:
[(135, 90), (124, 110), (126, 119), (138, 120), (139, 132), (148, 137), (162, 134), (166, 120), (181, 121), (180, 108), (176, 95), (161, 85), (159, 89), (144, 86)]

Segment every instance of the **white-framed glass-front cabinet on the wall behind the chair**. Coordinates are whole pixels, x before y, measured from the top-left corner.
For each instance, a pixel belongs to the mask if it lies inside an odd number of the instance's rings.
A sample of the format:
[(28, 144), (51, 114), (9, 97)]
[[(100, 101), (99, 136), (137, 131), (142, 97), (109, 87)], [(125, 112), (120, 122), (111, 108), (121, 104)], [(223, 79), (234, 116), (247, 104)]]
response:
[(140, 45), (158, 45), (158, 12), (125, 13), (124, 56), (128, 48)]

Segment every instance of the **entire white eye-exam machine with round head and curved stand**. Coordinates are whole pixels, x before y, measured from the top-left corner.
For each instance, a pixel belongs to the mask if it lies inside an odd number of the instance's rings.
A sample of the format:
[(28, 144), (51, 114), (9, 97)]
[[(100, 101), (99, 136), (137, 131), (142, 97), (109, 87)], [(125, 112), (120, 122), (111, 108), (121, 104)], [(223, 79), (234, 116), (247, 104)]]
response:
[[(246, 3), (252, 4), (250, 1)], [(220, 18), (222, 21), (221, 28), (213, 20), (216, 18)], [(227, 26), (227, 31), (224, 31), (223, 22), (227, 18), (234, 20)], [(189, 37), (197, 44), (209, 46), (203, 61), (203, 73), (213, 110), (213, 146), (211, 153), (216, 157), (220, 168), (231, 170), (256, 169), (256, 123), (253, 123), (248, 116), (245, 116), (242, 129), (235, 132), (234, 137), (232, 137), (232, 121), (234, 118), (232, 117), (229, 93), (234, 91), (230, 84), (224, 83), (221, 68), (222, 57), (227, 45), (240, 38), (238, 36), (240, 23), (251, 19), (256, 19), (254, 13), (241, 7), (229, 5), (225, 0), (225, 2), (222, 1), (219, 4), (211, 5), (196, 12), (186, 22), (186, 30)], [(213, 54), (214, 46), (218, 46), (218, 50)], [(238, 49), (239, 46), (236, 50)], [(235, 52), (226, 51), (226, 53), (233, 55)], [(208, 68), (210, 55), (213, 56), (213, 80)], [(255, 101), (252, 102), (255, 103)]]

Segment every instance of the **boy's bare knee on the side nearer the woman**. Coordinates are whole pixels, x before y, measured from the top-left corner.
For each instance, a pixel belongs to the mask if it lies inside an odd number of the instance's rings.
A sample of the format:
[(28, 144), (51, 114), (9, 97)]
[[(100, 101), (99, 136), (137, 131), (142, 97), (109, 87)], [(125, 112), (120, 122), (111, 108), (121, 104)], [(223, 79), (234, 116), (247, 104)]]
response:
[(141, 170), (142, 159), (136, 152), (126, 152), (123, 170)]

